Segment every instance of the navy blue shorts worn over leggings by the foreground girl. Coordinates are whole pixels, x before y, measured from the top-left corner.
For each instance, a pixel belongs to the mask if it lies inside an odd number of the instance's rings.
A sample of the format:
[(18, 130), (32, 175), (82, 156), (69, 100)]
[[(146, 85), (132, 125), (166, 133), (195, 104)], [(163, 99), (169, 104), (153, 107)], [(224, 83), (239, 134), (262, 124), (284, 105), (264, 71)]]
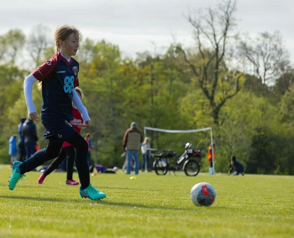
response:
[(76, 130), (66, 120), (52, 120), (43, 123), (47, 129), (44, 133), (44, 138), (50, 139), (51, 136), (57, 137), (61, 141), (66, 141)]

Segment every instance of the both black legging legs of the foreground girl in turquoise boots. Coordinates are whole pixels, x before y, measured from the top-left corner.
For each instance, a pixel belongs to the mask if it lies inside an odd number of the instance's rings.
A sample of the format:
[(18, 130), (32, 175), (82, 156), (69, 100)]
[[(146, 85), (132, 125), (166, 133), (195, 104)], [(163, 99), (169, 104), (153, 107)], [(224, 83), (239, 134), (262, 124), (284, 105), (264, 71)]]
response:
[[(20, 165), (20, 174), (29, 172), (59, 155), (63, 142), (55, 136), (50, 137), (45, 149), (37, 151)], [(76, 131), (66, 141), (76, 149), (75, 162), (83, 190), (90, 184), (90, 172), (87, 164), (88, 143)]]

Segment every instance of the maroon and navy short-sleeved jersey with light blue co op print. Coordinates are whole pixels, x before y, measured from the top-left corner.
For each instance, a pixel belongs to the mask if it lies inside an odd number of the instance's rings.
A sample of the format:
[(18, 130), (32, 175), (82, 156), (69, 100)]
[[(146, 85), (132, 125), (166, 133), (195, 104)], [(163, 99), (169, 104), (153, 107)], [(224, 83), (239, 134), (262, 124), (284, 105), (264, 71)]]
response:
[(79, 63), (72, 57), (68, 62), (60, 52), (33, 72), (42, 82), (42, 123), (57, 118), (73, 120), (72, 91), (79, 86), (78, 72)]

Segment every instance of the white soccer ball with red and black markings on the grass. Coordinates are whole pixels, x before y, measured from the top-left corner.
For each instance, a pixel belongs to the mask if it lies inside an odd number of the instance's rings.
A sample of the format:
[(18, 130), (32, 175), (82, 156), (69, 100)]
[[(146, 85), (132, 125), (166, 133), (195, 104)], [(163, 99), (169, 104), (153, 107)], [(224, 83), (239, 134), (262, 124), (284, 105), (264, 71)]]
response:
[(196, 206), (210, 206), (216, 199), (214, 187), (209, 183), (197, 183), (190, 192), (191, 201)]

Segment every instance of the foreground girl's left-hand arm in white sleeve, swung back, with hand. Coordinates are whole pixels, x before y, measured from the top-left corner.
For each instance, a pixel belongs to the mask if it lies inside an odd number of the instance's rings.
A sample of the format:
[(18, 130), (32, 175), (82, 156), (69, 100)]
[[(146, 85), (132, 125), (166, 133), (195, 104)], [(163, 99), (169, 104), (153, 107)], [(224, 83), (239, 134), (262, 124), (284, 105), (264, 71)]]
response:
[(33, 97), (32, 97), (33, 83), (36, 81), (37, 79), (33, 76), (33, 74), (30, 74), (28, 77), (25, 78), (24, 97), (25, 97), (25, 102), (27, 104), (30, 119), (38, 121), (39, 117), (37, 115), (37, 109), (33, 103)]

